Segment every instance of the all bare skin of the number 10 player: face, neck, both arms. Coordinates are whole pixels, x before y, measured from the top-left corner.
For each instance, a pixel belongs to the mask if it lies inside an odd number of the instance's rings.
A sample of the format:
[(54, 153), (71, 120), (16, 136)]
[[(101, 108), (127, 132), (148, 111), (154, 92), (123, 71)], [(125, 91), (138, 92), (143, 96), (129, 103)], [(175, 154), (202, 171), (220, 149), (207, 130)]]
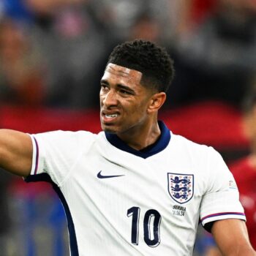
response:
[[(157, 113), (165, 102), (164, 92), (147, 89), (137, 70), (108, 64), (101, 80), (100, 120), (102, 129), (113, 132), (129, 146), (140, 150), (154, 143), (161, 133)], [(23, 132), (0, 129), (0, 167), (18, 176), (29, 176), (33, 148)], [(212, 233), (223, 255), (255, 255), (244, 221), (214, 222)]]

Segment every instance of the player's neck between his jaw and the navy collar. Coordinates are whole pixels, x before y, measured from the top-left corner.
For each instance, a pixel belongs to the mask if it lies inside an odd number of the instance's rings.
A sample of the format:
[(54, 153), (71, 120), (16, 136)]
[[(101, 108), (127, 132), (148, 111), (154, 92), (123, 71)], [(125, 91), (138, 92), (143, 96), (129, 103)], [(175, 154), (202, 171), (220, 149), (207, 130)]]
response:
[(139, 129), (137, 127), (135, 130), (131, 129), (129, 132), (117, 134), (118, 138), (136, 150), (141, 150), (154, 144), (160, 135), (161, 130), (157, 123), (157, 118), (154, 118), (150, 124), (139, 127)]

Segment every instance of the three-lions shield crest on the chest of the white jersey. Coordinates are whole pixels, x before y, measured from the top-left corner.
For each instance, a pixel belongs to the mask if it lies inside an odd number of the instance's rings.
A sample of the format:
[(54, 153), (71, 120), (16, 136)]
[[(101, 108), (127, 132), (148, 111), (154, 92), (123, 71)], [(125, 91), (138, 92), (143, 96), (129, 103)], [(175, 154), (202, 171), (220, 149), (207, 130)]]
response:
[(168, 192), (177, 203), (187, 203), (194, 195), (194, 175), (167, 173)]

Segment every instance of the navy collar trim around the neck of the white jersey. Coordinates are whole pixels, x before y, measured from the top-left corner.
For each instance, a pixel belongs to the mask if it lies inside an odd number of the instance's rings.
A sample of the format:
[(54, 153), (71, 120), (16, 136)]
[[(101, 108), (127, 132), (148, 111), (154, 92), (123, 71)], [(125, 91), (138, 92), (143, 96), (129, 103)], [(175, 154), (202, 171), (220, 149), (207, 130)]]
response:
[(126, 151), (130, 154), (134, 154), (137, 157), (142, 157), (144, 159), (153, 156), (154, 154), (159, 153), (164, 150), (170, 142), (170, 130), (166, 127), (164, 122), (158, 121), (159, 128), (161, 130), (161, 135), (158, 140), (146, 148), (142, 150), (136, 150), (135, 148), (131, 148), (123, 140), (118, 138), (116, 134), (105, 132), (105, 136), (110, 144), (115, 146), (116, 148), (121, 149), (122, 151)]

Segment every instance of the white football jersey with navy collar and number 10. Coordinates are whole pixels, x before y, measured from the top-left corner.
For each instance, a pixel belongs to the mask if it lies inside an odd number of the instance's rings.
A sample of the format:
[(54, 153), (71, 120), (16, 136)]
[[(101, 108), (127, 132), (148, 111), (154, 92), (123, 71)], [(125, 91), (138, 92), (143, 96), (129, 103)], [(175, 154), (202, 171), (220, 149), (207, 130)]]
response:
[(142, 151), (107, 132), (31, 135), (26, 180), (52, 182), (72, 256), (192, 255), (198, 222), (245, 220), (219, 153), (159, 125), (159, 140)]

